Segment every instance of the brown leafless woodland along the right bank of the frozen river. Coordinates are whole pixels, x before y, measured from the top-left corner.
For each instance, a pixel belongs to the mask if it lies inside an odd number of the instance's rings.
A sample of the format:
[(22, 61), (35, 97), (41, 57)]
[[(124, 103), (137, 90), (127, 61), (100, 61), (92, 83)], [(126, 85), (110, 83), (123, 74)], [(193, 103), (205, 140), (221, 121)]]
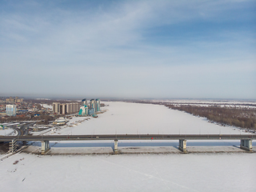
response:
[(183, 110), (189, 114), (207, 118), (212, 122), (222, 124), (222, 126), (238, 126), (256, 130), (256, 109), (253, 108), (190, 105), (174, 106), (169, 103), (165, 103), (164, 105), (173, 110)]

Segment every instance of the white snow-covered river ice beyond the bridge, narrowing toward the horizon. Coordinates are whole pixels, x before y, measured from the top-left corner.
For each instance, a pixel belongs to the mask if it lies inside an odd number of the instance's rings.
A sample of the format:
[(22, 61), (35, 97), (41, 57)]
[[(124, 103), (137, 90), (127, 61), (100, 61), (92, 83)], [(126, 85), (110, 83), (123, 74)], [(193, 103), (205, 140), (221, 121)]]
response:
[[(104, 114), (50, 134), (240, 134), (235, 127), (218, 126), (166, 106), (104, 102)], [(82, 121), (85, 118), (74, 118)], [(74, 120), (73, 120), (74, 123)]]

